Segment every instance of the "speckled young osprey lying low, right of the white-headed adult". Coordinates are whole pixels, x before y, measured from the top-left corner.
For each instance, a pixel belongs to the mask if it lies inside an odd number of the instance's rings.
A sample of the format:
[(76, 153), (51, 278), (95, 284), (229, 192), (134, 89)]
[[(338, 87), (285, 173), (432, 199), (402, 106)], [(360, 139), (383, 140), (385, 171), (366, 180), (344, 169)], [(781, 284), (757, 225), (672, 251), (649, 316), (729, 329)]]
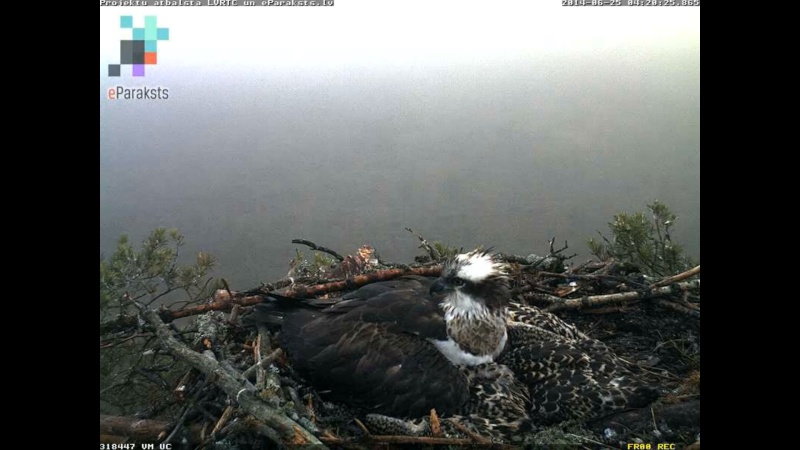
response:
[(529, 389), (536, 423), (592, 420), (644, 407), (658, 396), (604, 343), (555, 315), (511, 302), (508, 319), (508, 344), (498, 362)]

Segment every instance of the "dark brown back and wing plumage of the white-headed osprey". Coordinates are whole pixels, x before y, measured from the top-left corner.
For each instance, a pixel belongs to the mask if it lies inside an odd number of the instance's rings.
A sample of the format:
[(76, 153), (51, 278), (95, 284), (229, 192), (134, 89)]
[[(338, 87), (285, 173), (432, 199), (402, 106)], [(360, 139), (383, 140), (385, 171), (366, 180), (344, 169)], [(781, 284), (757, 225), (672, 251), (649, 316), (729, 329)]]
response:
[(332, 399), (371, 412), (455, 414), (467, 379), (428, 339), (447, 338), (427, 295), (431, 279), (404, 277), (347, 294), (322, 311), (286, 317), (280, 344), (294, 367)]

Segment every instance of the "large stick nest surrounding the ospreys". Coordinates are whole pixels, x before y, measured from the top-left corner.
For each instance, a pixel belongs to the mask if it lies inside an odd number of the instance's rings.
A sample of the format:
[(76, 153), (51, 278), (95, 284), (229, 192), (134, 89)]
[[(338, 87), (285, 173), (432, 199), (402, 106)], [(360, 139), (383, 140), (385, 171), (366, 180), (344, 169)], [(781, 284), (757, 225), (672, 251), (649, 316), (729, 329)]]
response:
[[(458, 419), (432, 410), (414, 421), (364, 414), (326, 401), (292, 369), (276, 347), (275, 332), (241, 324), (247, 307), (280, 290), (283, 296), (335, 302), (341, 294), (404, 274), (435, 276), (441, 251), (420, 238), (426, 257), (413, 265), (381, 261), (374, 249), (354, 255), (335, 252), (333, 264), (307, 260), (292, 267), (292, 277), (256, 289), (227, 286), (213, 301), (182, 309), (154, 311), (140, 306), (143, 321), (120, 318), (106, 324), (132, 326), (158, 337), (160, 348), (188, 366), (170, 388), (167, 410), (140, 417), (101, 416), (103, 442), (171, 442), (173, 448), (278, 448), (426, 445), (572, 444), (617, 448), (625, 443), (677, 444), (699, 440), (700, 299), (699, 266), (675, 276), (651, 280), (628, 273), (614, 260), (569, 269), (563, 250), (548, 256), (501, 255), (514, 268), (515, 298), (557, 313), (583, 332), (605, 342), (620, 357), (648, 373), (666, 394), (646, 410), (626, 411), (591, 422), (538, 426), (514, 439), (482, 436)], [(325, 252), (308, 241), (299, 243)], [(321, 267), (324, 266), (324, 267)], [(566, 270), (565, 270), (566, 269)], [(181, 331), (176, 319), (196, 316)], [(121, 333), (121, 332), (120, 332)], [(145, 416), (142, 418), (141, 416)], [(150, 416), (150, 417), (147, 417)], [(393, 421), (394, 420), (394, 421)], [(674, 447), (673, 447), (674, 448)]]

